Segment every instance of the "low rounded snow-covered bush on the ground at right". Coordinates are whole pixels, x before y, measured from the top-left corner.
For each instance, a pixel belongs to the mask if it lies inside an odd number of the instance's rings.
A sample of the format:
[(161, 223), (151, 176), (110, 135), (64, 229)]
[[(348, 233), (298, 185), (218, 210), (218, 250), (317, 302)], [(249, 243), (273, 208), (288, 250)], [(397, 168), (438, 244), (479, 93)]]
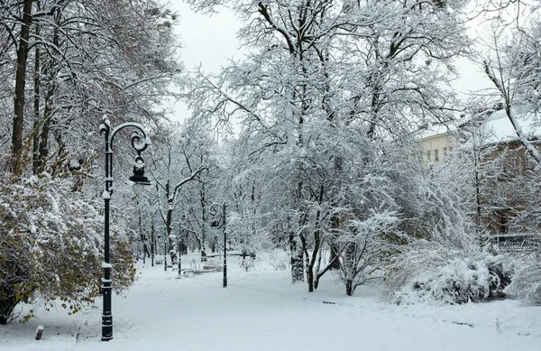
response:
[(501, 257), (449, 250), (428, 242), (398, 254), (389, 268), (385, 297), (396, 303), (476, 302), (503, 297), (509, 283), (509, 267)]

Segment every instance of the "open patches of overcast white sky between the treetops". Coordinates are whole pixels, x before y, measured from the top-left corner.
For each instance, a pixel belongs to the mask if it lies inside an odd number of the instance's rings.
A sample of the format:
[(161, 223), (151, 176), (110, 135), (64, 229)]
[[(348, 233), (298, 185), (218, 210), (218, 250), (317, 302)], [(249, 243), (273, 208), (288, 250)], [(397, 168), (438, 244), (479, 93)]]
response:
[[(179, 14), (176, 32), (183, 46), (181, 60), (185, 69), (193, 70), (201, 64), (203, 70), (217, 72), (227, 60), (239, 57), (236, 32), (240, 24), (232, 12), (223, 9), (219, 14), (195, 14), (179, 0), (175, 0), (171, 8)], [(472, 33), (475, 32), (476, 29), (472, 28)], [(490, 81), (481, 69), (469, 60), (457, 60), (455, 66), (461, 77), (455, 82), (454, 88), (462, 92), (464, 98), (468, 92), (490, 87)], [(188, 117), (186, 105), (177, 103), (173, 108), (174, 120), (181, 121)]]

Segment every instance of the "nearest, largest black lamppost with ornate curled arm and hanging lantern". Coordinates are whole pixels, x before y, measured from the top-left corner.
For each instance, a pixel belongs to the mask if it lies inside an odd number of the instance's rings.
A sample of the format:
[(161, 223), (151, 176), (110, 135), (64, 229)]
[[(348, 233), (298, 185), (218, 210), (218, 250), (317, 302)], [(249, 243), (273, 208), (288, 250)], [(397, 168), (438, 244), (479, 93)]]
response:
[(133, 164), (133, 176), (130, 180), (133, 182), (133, 192), (136, 195), (141, 195), (142, 188), (145, 185), (151, 184), (150, 181), (144, 176), (144, 160), (141, 157), (143, 152), (150, 144), (151, 139), (146, 134), (144, 127), (138, 123), (124, 123), (118, 125), (111, 132), (111, 124), (109, 119), (104, 115), (101, 125), (99, 125), (100, 134), (105, 136), (105, 189), (102, 194), (102, 198), (105, 201), (105, 238), (104, 238), (104, 262), (102, 268), (104, 268), (104, 278), (102, 279), (101, 290), (104, 296), (104, 309), (102, 311), (102, 341), (109, 341), (113, 338), (113, 313), (111, 311), (111, 292), (112, 279), (111, 268), (109, 263), (109, 202), (111, 195), (113, 195), (113, 142), (115, 135), (124, 128), (131, 127), (136, 131), (132, 134), (132, 146), (137, 152), (135, 161)]

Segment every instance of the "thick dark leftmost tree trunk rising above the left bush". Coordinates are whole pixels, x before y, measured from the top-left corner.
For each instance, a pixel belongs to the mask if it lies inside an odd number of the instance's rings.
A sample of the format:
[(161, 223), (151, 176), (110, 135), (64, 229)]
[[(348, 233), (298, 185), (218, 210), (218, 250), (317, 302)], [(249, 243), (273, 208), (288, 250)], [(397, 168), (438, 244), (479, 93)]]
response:
[(24, 0), (23, 23), (17, 50), (17, 68), (15, 72), (14, 122), (12, 134), (12, 171), (21, 174), (21, 152), (23, 151), (24, 124), (24, 88), (26, 86), (26, 66), (28, 60), (28, 42), (32, 23), (33, 0)]

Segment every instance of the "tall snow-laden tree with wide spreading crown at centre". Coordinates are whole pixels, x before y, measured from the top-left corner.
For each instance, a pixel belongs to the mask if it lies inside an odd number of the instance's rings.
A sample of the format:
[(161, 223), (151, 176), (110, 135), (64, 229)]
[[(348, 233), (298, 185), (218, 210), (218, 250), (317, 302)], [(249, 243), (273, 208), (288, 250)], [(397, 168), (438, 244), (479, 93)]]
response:
[(338, 195), (359, 184), (336, 181), (342, 167), (363, 166), (344, 160), (372, 157), (366, 150), (378, 148), (369, 143), (398, 143), (426, 121), (449, 118), (445, 68), (468, 44), (463, 2), (189, 3), (231, 6), (247, 23), (249, 53), (216, 77), (194, 78), (188, 102), (198, 118), (240, 125), (238, 143), (264, 179), (261, 192), (269, 184), (280, 194), (274, 214), (287, 223), (292, 280), (303, 280), (306, 266), (312, 291), (328, 270), (318, 258), (323, 244), (346, 216)]

